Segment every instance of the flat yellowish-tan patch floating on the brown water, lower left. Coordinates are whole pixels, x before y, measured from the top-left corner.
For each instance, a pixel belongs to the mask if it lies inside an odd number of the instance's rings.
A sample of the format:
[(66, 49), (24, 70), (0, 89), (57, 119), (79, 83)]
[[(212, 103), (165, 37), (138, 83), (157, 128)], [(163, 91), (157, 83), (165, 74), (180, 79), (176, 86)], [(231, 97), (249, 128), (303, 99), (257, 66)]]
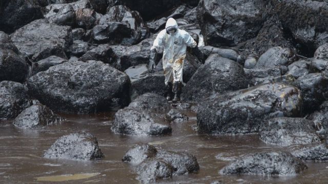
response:
[(69, 181), (69, 180), (79, 180), (87, 179), (94, 176), (98, 176), (100, 173), (79, 173), (79, 174), (66, 174), (66, 175), (56, 175), (56, 176), (42, 176), (36, 177), (36, 181)]

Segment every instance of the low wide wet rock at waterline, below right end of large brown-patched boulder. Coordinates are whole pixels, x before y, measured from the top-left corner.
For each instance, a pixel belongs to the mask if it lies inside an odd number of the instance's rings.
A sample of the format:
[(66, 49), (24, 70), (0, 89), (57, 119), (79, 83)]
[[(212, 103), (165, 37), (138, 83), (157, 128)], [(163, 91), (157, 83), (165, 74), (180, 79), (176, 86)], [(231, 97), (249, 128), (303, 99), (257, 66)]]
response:
[(264, 121), (259, 134), (263, 142), (282, 146), (320, 142), (313, 123), (303, 118), (274, 118)]

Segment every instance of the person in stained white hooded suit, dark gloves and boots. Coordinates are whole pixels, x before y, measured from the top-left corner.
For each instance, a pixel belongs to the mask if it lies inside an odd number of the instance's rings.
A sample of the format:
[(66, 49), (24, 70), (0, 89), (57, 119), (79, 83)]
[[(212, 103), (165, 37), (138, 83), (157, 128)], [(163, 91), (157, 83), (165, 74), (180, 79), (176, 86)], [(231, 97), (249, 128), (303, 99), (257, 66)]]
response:
[[(182, 68), (185, 62), (187, 47), (194, 48), (193, 53), (200, 55), (196, 41), (184, 30), (178, 29), (177, 22), (169, 18), (165, 30), (162, 30), (154, 40), (151, 48), (149, 71), (152, 72), (155, 65), (157, 52), (163, 50), (163, 70), (165, 85), (167, 87), (167, 100), (180, 101), (182, 89)], [(198, 57), (198, 56), (197, 56)]]

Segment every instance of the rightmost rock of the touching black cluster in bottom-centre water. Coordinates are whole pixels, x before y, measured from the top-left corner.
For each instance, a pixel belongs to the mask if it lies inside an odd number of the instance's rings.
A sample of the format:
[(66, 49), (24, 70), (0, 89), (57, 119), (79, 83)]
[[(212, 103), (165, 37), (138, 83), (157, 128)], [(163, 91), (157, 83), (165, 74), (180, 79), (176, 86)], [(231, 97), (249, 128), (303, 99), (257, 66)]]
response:
[(168, 163), (173, 169), (173, 175), (183, 175), (199, 170), (196, 157), (189, 153), (159, 150), (156, 159)]

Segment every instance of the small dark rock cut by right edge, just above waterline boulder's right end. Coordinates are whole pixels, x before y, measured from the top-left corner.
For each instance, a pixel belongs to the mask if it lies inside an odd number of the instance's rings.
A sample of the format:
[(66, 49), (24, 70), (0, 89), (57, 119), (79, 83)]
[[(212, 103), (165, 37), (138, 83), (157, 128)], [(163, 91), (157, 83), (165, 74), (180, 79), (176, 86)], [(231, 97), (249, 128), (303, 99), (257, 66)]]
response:
[(320, 105), (320, 110), (313, 112), (308, 117), (314, 123), (317, 133), (328, 136), (328, 101)]

